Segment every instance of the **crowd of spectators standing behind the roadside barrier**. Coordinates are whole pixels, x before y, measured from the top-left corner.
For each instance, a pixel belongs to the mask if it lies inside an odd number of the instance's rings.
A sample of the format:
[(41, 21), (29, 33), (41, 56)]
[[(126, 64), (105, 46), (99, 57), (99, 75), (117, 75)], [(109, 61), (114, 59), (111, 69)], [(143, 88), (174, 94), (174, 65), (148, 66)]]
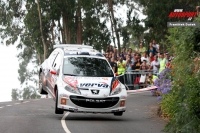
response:
[[(144, 47), (142, 43), (138, 49), (123, 48), (121, 53), (118, 53), (117, 48), (110, 45), (104, 56), (110, 63), (113, 71), (116, 75), (127, 75), (126, 83), (134, 84), (136, 74), (130, 74), (131, 72), (144, 70), (151, 71), (152, 74), (148, 74), (145, 78), (146, 82), (153, 82), (153, 77), (157, 77), (165, 68), (171, 68), (171, 60), (174, 58), (168, 52), (160, 52), (159, 44), (155, 40), (149, 43), (148, 47)], [(139, 75), (141, 77), (141, 74)]]

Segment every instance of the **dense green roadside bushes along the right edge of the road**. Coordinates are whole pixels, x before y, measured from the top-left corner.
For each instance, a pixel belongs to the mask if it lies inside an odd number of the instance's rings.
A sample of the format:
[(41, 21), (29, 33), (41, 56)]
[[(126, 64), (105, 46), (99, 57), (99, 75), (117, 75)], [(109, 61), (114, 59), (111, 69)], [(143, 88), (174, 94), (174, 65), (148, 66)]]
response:
[[(200, 17), (196, 18), (200, 23)], [(200, 27), (170, 28), (168, 42), (174, 53), (172, 90), (163, 96), (161, 108), (170, 121), (166, 131), (200, 132)]]

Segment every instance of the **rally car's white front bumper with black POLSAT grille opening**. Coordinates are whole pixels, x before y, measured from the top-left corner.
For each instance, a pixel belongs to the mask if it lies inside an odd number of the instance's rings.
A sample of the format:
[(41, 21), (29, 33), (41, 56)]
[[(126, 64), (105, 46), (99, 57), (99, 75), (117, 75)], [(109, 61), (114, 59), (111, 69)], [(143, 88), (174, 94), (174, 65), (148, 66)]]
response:
[(90, 98), (76, 95), (60, 95), (58, 109), (82, 113), (114, 113), (126, 111), (126, 97), (110, 96), (106, 98)]

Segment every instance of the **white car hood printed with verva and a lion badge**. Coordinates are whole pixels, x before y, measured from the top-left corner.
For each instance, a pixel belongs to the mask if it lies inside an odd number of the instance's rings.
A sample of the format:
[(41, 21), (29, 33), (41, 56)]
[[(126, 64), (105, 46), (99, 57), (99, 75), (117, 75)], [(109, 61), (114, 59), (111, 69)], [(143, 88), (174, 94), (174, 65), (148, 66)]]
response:
[(78, 89), (82, 96), (91, 98), (108, 97), (115, 79), (115, 77), (63, 77), (63, 80), (74, 89)]

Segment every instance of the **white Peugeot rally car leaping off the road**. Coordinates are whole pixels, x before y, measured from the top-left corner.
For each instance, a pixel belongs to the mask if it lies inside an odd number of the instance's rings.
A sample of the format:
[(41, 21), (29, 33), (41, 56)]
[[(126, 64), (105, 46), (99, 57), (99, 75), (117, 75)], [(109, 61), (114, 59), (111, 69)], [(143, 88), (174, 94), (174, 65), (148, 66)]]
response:
[(54, 45), (39, 70), (41, 94), (55, 100), (55, 113), (113, 113), (126, 110), (125, 86), (106, 58), (91, 46)]

